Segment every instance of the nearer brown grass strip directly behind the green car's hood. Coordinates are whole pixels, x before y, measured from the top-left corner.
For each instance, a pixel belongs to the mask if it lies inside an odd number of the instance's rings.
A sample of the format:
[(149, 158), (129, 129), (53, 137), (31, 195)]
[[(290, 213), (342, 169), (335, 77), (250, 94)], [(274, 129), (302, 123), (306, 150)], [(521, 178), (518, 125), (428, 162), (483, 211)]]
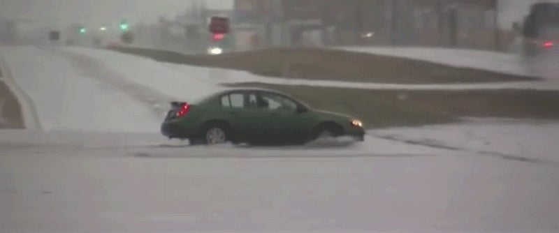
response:
[(463, 117), (559, 119), (559, 91), (400, 91), (275, 84), (231, 84), (289, 93), (322, 110), (360, 117), (368, 128), (421, 126)]

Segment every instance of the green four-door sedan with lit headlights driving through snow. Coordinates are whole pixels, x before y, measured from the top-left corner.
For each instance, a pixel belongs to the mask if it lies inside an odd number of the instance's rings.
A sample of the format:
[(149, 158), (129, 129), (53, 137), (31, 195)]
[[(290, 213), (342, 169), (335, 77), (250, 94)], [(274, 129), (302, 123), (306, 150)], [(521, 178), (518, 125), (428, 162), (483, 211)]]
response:
[(313, 110), (268, 89), (228, 89), (194, 103), (173, 102), (161, 133), (191, 144), (305, 144), (319, 137), (363, 141), (354, 117)]

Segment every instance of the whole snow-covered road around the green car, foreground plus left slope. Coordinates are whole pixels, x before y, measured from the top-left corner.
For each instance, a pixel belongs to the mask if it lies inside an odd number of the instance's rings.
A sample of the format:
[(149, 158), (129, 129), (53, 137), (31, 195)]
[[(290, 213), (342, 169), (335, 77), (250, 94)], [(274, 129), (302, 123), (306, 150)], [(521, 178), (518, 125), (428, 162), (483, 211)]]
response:
[(45, 128), (0, 131), (0, 232), (559, 232), (557, 122), (188, 146), (159, 135), (168, 100), (267, 79), (81, 48), (0, 55)]

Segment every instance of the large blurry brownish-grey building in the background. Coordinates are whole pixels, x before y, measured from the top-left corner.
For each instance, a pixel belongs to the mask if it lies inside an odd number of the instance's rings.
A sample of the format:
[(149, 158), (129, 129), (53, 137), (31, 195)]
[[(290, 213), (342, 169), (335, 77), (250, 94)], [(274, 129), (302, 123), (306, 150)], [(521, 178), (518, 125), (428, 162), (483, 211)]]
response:
[(260, 46), (490, 49), (500, 39), (496, 9), (497, 0), (235, 0), (233, 24), (263, 38)]

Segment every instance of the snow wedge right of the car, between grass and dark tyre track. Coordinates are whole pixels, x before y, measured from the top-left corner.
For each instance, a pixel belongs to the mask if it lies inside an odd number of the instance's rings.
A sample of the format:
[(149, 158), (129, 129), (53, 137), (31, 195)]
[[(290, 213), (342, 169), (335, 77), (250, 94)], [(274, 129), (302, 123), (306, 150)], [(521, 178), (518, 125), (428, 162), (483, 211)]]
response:
[(391, 128), (370, 134), (400, 142), (559, 165), (556, 121), (467, 119), (456, 125)]

